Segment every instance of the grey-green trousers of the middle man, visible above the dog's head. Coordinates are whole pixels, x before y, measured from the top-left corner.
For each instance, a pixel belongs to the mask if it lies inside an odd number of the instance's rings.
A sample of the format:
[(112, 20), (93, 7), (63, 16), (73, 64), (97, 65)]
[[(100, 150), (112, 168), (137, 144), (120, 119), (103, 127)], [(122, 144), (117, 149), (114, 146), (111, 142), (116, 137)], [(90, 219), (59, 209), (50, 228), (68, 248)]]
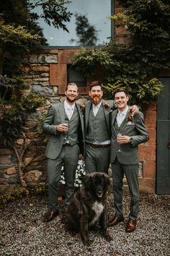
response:
[(95, 171), (108, 173), (110, 163), (110, 146), (107, 148), (93, 148), (86, 145), (85, 168), (86, 174)]

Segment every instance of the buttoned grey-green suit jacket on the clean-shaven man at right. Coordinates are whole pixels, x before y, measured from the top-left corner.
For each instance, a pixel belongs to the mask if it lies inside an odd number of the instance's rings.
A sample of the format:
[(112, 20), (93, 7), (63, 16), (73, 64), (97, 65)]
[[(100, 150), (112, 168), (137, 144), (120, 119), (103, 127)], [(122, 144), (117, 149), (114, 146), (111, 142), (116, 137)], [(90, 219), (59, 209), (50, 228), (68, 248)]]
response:
[(133, 118), (133, 122), (128, 121), (130, 112), (128, 111), (124, 121), (119, 127), (121, 135), (127, 135), (133, 138), (133, 143), (125, 143), (120, 145), (120, 152), (117, 143), (117, 125), (115, 124), (118, 110), (112, 112), (111, 127), (112, 127), (112, 140), (111, 140), (111, 156), (110, 162), (117, 159), (122, 164), (138, 164), (138, 145), (149, 140), (149, 135), (144, 123), (143, 113), (140, 111)]

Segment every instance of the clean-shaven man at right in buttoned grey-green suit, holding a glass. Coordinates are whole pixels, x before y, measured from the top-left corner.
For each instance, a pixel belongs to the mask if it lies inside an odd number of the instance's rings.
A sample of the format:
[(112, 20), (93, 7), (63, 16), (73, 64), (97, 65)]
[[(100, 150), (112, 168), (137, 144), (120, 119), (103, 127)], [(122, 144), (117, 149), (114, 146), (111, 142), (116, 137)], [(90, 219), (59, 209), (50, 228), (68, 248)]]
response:
[(139, 111), (131, 116), (128, 106), (128, 93), (117, 89), (114, 93), (117, 110), (112, 112), (111, 156), (113, 192), (115, 197), (115, 217), (109, 220), (109, 226), (124, 221), (122, 213), (122, 185), (124, 174), (130, 191), (130, 213), (126, 226), (127, 232), (136, 228), (139, 206), (138, 187), (138, 145), (147, 142), (149, 135), (144, 124), (143, 114)]

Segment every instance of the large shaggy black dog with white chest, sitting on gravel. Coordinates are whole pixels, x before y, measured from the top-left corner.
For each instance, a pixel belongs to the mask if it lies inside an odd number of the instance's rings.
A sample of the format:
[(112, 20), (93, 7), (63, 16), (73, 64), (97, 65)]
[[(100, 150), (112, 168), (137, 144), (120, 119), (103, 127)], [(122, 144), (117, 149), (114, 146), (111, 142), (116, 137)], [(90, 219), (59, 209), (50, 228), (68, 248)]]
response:
[(66, 209), (66, 227), (80, 232), (84, 245), (89, 245), (88, 231), (96, 224), (99, 224), (105, 239), (112, 239), (107, 233), (106, 197), (109, 184), (107, 174), (87, 174)]

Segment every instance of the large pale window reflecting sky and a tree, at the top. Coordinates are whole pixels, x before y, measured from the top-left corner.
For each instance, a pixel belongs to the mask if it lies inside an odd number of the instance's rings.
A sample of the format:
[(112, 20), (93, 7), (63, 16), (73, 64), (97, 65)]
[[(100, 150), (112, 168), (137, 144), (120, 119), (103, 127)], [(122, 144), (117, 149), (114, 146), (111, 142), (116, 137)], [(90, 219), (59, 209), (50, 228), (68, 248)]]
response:
[[(66, 22), (69, 33), (39, 20), (49, 46), (101, 46), (109, 42), (113, 0), (72, 0), (67, 7), (73, 13), (71, 21)], [(39, 8), (34, 12), (39, 13)]]

